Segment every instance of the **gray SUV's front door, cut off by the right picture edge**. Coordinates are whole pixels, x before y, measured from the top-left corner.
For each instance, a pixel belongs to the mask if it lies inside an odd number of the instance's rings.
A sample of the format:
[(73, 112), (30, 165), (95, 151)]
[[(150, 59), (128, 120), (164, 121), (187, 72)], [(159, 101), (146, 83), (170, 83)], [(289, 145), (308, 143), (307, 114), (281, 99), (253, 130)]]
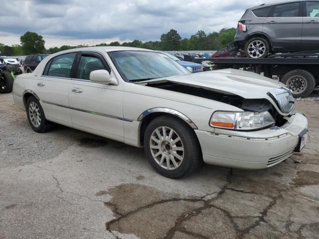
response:
[(319, 49), (319, 1), (304, 2), (302, 49)]

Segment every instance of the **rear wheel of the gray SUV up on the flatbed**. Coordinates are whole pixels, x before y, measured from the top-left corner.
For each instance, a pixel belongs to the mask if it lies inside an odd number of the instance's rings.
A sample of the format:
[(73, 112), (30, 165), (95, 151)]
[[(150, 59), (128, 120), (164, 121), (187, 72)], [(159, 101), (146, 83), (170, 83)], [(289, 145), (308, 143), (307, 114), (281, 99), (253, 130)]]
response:
[(268, 41), (261, 37), (254, 37), (246, 42), (245, 53), (249, 58), (265, 58), (270, 52)]

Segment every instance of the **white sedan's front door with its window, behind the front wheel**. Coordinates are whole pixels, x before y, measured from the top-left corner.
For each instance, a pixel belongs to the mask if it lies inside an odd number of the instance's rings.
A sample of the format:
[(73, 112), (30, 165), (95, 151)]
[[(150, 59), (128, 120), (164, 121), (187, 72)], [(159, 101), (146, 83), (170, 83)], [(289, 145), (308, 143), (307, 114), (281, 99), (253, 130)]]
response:
[(123, 141), (123, 91), (119, 85), (91, 82), (90, 73), (101, 69), (115, 77), (102, 55), (82, 52), (78, 56), (76, 77), (68, 93), (72, 125)]

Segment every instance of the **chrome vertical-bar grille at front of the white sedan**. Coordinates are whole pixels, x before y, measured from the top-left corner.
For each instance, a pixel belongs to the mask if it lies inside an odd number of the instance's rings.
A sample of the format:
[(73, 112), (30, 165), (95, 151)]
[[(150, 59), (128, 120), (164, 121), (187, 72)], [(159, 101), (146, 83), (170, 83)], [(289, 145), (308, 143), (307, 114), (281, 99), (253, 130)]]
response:
[(269, 92), (269, 94), (283, 113), (290, 113), (294, 109), (295, 102), (290, 89), (282, 87)]

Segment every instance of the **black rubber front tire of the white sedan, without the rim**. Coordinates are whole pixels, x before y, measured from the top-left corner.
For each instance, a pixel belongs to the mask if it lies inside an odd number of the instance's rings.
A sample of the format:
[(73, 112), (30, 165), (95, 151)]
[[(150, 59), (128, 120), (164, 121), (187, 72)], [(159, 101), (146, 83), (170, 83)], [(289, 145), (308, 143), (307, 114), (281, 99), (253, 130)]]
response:
[[(182, 161), (179, 161), (180, 163), (179, 166), (172, 170), (168, 170), (160, 166), (160, 164), (153, 157), (151, 147), (150, 147), (152, 133), (156, 129), (162, 126), (173, 129), (173, 131), (176, 132), (176, 135), (179, 136), (179, 138), (181, 139), (180, 141), (181, 146), (184, 148)], [(168, 132), (169, 131), (167, 131), (167, 135), (168, 135)], [(176, 179), (176, 178), (184, 177), (190, 174), (193, 170), (195, 170), (200, 165), (200, 162), (202, 161), (200, 145), (194, 130), (181, 119), (177, 119), (172, 116), (160, 116), (159, 118), (156, 118), (150, 122), (144, 134), (144, 148), (145, 148), (145, 153), (147, 155), (147, 158), (150, 164), (152, 165), (152, 167), (162, 176), (165, 176), (168, 178)], [(167, 165), (167, 159), (164, 159), (164, 161)], [(171, 162), (170, 165), (174, 166), (172, 161), (170, 162)]]

